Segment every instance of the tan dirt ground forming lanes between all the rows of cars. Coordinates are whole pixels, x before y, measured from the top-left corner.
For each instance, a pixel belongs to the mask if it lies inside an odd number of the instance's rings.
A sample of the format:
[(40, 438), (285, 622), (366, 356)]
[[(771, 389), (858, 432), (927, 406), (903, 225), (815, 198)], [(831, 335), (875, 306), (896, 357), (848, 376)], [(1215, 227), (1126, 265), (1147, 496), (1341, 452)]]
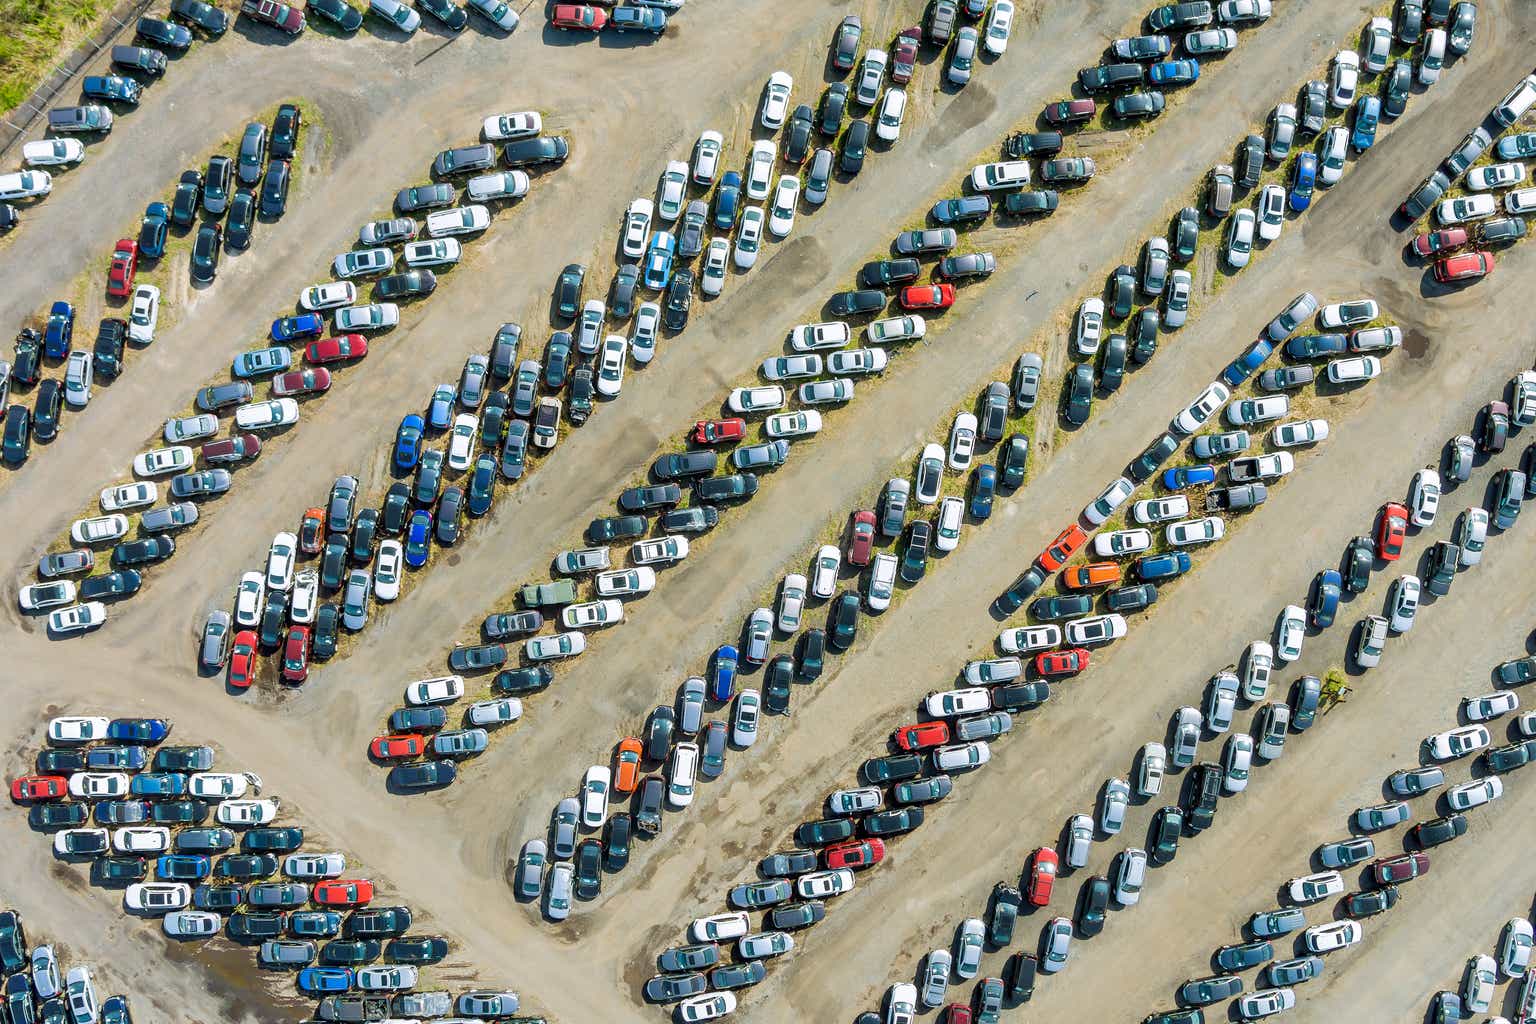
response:
[[(888, 37), (917, 20), (915, 5), (905, 6), (912, 9), (866, 0), (859, 11), (874, 37)], [(1017, 499), (966, 533), (942, 571), (885, 620), (865, 620), (856, 652), (834, 660), (814, 688), (797, 688), (794, 717), (773, 720), (750, 754), (728, 758), (727, 775), (702, 786), (697, 806), (668, 815), (662, 837), (641, 844), (630, 869), (607, 877), (602, 898), (581, 904), (565, 924), (550, 926), (535, 907), (515, 903), (505, 875), (519, 844), (542, 835), (550, 809), (573, 792), (584, 768), (605, 761), (617, 737), (670, 702), (677, 682), (736, 631), (785, 562), (914, 454), (938, 413), (1052, 322), (1084, 281), (1126, 258), (1172, 212), (1170, 200), (1226, 158), (1249, 124), (1261, 123), (1298, 69), (1350, 45), (1372, 5), (1276, 5), (1267, 26), (1246, 35), (1233, 58), (1203, 77), (1071, 209), (1018, 229), (1017, 250), (951, 313), (942, 342), (903, 356), (889, 381), (839, 416), (829, 442), (797, 448), (773, 485), (711, 536), (707, 557), (668, 571), (657, 593), (634, 606), (634, 622), (562, 672), (558, 688), (530, 700), (527, 720), (467, 766), (458, 785), (438, 795), (393, 797), (364, 746), (401, 688), (438, 674), (442, 651), (488, 600), (542, 573), (545, 559), (601, 514), (616, 487), (723, 381), (779, 350), (782, 327), (819, 318), (808, 296), (820, 301), (849, 287), (857, 261), (914, 221), (1021, 117), (1058, 98), (1075, 68), (1092, 63), (1144, 6), (1021, 3), (1006, 58), (962, 94), (925, 92), (894, 150), (872, 155), (857, 184), (836, 190), (823, 210), (802, 213), (793, 239), (751, 275), (733, 278), (719, 301), (696, 306), (688, 332), (670, 342), (677, 352), (664, 341), (656, 364), (628, 375), (621, 402), (567, 436), (561, 456), (502, 499), (406, 599), (378, 608), (381, 620), (350, 657), (283, 703), (230, 697), (218, 682), (197, 677), (194, 642), (207, 608), (227, 603), (266, 539), (292, 528), (338, 473), (359, 473), (366, 487), (382, 490), (376, 485), (386, 479), (384, 451), (401, 407), (452, 379), (499, 322), (518, 319), (542, 344), (558, 269), (610, 264), (628, 198), (648, 193), (664, 161), (684, 157), (700, 129), (725, 130), (733, 160), (739, 157), (768, 71), (786, 68), (797, 83), (819, 81), (826, 38), (849, 8), (696, 0), (664, 40), (634, 48), (541, 37), (536, 9), (510, 38), (472, 29), (447, 46), (430, 34), (409, 43), (307, 34), (272, 46), (232, 32), (178, 61), (144, 109), (123, 118), (111, 144), (94, 150), (0, 249), (12, 286), (0, 295), (6, 322), (45, 309), (83, 266), (100, 263), (143, 203), (169, 190), (180, 161), (206, 149), (210, 132), (238, 130), (247, 114), (304, 95), (324, 111), (329, 157), (289, 215), (263, 226), (250, 253), (221, 266), (217, 287), (189, 293), (181, 321), (98, 391), (54, 445), (35, 451), (35, 465), (0, 484), (17, 580), (158, 428), (166, 396), (189, 393), (252, 347), (283, 304), (273, 296), (321, 279), (358, 223), (378, 215), (398, 186), (425, 180), (436, 149), (467, 140), (485, 114), (541, 109), (570, 134), (573, 158), (498, 215), (475, 258), (447, 275), (346, 387), (306, 413), (278, 457), (241, 473), (197, 543), (158, 571), (144, 594), (114, 609), (108, 629), (49, 643), (12, 602), (5, 645), (12, 695), (0, 712), (8, 775), (22, 771), (51, 714), (170, 714), (180, 740), (214, 742), (230, 763), (258, 771), (295, 820), (367, 864), (433, 929), (453, 936), (452, 976), (505, 983), (522, 993), (525, 1012), (567, 1024), (660, 1019), (662, 1010), (639, 998), (650, 958), (679, 941), (690, 918), (723, 909), (725, 889), (748, 877), (757, 857), (790, 846), (788, 831), (829, 789), (849, 785), (863, 758), (883, 752), (883, 737), (911, 718), (923, 692), (991, 649), (997, 623), (988, 602), (1031, 554), (1292, 295), (1312, 289), (1326, 299), (1381, 299), (1412, 339), (1427, 344), (1395, 353), (1326, 450), (1252, 522), (1197, 554), (1198, 571), (1103, 665), (1060, 688), (1020, 735), (998, 746), (989, 768), (963, 780), (919, 834), (892, 844), (892, 863), (862, 875), (823, 924), (797, 935), (793, 956), (773, 966), (737, 1016), (848, 1021), (877, 1009), (888, 984), (909, 978), (928, 949), (948, 944), (960, 920), (978, 915), (992, 883), (1017, 878), (1028, 851), (1054, 843), (1069, 814), (1089, 809), (1104, 777), (1129, 771), (1130, 754), (1161, 738), (1174, 708), (1193, 702), (1246, 642), (1267, 636), (1278, 608), (1301, 599), (1318, 568), (1336, 563), (1375, 508), (1399, 497), (1412, 471), (1435, 461), (1445, 438), (1468, 430), (1502, 381), (1531, 365), (1528, 247), (1501, 255), (1488, 281), (1444, 295), (1422, 267), (1404, 264), (1405, 238), (1389, 223), (1428, 166), (1528, 71), (1536, 35), (1530, 9), (1481, 5), (1471, 55), (1413, 98), (1378, 150), (1350, 164), (1338, 193), (1290, 221), (1272, 252), (1095, 410)], [(745, 38), (753, 40), (751, 60), (742, 60)], [(932, 68), (923, 74), (934, 81)], [(94, 306), (81, 322), (94, 319)], [(1525, 439), (1516, 441), (1448, 496), (1447, 513), (1475, 500), (1464, 494), (1481, 497), (1493, 468), (1516, 462)], [(1448, 530), (1447, 514), (1413, 539), (1410, 556)], [(1425, 606), (1381, 668), (1352, 680), (1347, 705), (1293, 737), (1244, 797), (1224, 800), (1215, 829), (1152, 872), (1140, 907), (1112, 915), (1104, 935), (1075, 947), (1068, 972), (1041, 983), (1029, 1012), (1132, 1021), (1172, 1006), (1174, 987), (1206, 973), (1217, 944), (1236, 941), (1249, 913), (1272, 906), (1278, 886), (1309, 870), (1315, 844), (1344, 834), (1349, 809), (1379, 798), (1381, 778), (1413, 760), (1418, 738), (1453, 723), (1456, 699), (1487, 689), (1487, 669), (1524, 652), (1530, 625), (1521, 613), (1533, 586), (1527, 557), (1530, 524), (1493, 539), (1484, 565)], [(1390, 577), (1378, 573), (1341, 619), (1375, 609)], [(1310, 640), (1296, 671), (1321, 674), (1341, 663), (1347, 622)], [(1281, 674), (1279, 685), (1296, 671)], [(1203, 746), (1203, 757), (1215, 754), (1215, 745)], [(1465, 768), (1459, 772), (1453, 775), (1464, 777)], [(1405, 886), (1390, 915), (1367, 921), (1366, 944), (1333, 955), (1290, 1016), (1412, 1019), (1430, 992), (1453, 986), (1464, 960), (1491, 947), (1504, 920), (1530, 909), (1533, 870), (1519, 841), (1536, 800), (1530, 788), (1516, 775), (1502, 801), (1473, 812), (1471, 834), (1432, 854), (1430, 877)], [(1091, 870), (1138, 841), (1150, 811), (1134, 809), (1123, 843), (1095, 846)], [(1428, 815), (1415, 806), (1415, 817)], [(126, 918), (112, 894), (55, 866), (46, 841), (25, 824), (20, 812), (0, 815), (0, 904), (22, 909), (31, 930), (103, 967), (109, 990), (127, 990), (135, 1004), (174, 1019), (300, 1015), (286, 979), (258, 975), (249, 953), (221, 946), (192, 953), (160, 941), (158, 929)], [(1393, 841), (1384, 837), (1378, 849)], [(1063, 909), (1052, 913), (1069, 913), (1077, 881), (1064, 880)], [(1032, 947), (1044, 917), (1021, 921), (1015, 949)], [(1324, 909), (1312, 920), (1324, 920)], [(989, 953), (983, 973), (1000, 967), (1001, 953)], [(960, 989), (951, 992), (963, 998)]]

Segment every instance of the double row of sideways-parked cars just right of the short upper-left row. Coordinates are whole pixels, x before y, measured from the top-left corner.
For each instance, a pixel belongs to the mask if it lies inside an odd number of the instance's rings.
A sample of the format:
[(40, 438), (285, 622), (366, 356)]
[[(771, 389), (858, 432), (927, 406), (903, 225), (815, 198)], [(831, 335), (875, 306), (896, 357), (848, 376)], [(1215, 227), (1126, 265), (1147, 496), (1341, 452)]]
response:
[[(292, 114), (290, 126), (296, 137), (298, 109), (293, 107)], [(247, 126), (241, 152), (246, 154), (247, 147), (250, 160), (246, 163), (253, 173), (258, 173), (270, 147), (263, 124)], [(525, 190), (525, 175), (519, 184)], [(412, 216), (364, 224), (358, 232), (359, 244), (370, 247), (336, 256), (333, 269), (341, 279), (304, 289), (298, 298), (301, 312), (272, 322), (270, 345), (238, 355), (230, 364), (227, 382), (200, 388), (192, 415), (166, 421), (164, 447), (151, 448), (134, 459), (134, 474), (141, 479), (101, 491), (100, 504), (104, 514), (78, 520), (71, 528), (71, 543), (80, 547), (43, 556), (38, 576), (45, 582), (23, 588), (20, 599), (23, 609), (58, 608), (55, 614), (60, 617), (60, 633), (101, 625), (106, 619), (104, 605), (100, 602), (72, 605), (75, 588), (69, 579), (95, 570), (92, 545), (117, 542), (112, 550), (112, 568), (117, 573), (111, 593), (118, 597), (135, 593), (140, 568), (175, 553), (172, 533), (197, 522), (200, 502), (217, 497), (232, 487), (232, 470), (260, 456), (263, 434), (298, 422), (301, 399), (324, 395), (339, 365), (353, 364), (367, 355), (364, 332), (398, 322), (399, 306), (393, 301), (353, 304), (359, 298), (353, 278), (378, 275), (393, 267), (393, 244), (406, 247), (407, 266), (415, 261), (441, 269), (458, 261), (461, 253), (458, 236), (484, 230), (490, 220), (488, 210), (479, 204), (435, 209), (455, 200), (456, 190), (452, 184), (404, 189), (396, 203), (406, 209), (416, 209), (410, 204), (429, 190), (435, 197), (432, 203), (424, 203), (435, 210), (429, 215), (430, 238), (416, 241), (421, 226)], [(194, 210), (204, 201), (206, 189), (189, 200)], [(444, 213), (447, 220), (435, 226), (430, 218)], [(387, 293), (387, 298), (407, 299), (430, 293), (435, 281), (432, 270), (409, 269), (406, 273), (379, 279), (375, 287)], [(326, 336), (326, 313), (335, 316), (335, 332), (330, 336)], [(301, 361), (309, 365), (303, 365)], [(252, 401), (257, 398), (257, 385), (263, 381), (269, 382), (269, 398)], [(218, 436), (221, 416), (230, 413), (233, 430), (227, 436)], [(172, 499), (164, 508), (155, 507), (161, 484)], [(134, 520), (140, 536), (124, 539), (135, 525)], [(134, 576), (121, 576), (126, 570), (132, 570)], [(227, 651), (227, 646), (229, 637), (223, 649)]]

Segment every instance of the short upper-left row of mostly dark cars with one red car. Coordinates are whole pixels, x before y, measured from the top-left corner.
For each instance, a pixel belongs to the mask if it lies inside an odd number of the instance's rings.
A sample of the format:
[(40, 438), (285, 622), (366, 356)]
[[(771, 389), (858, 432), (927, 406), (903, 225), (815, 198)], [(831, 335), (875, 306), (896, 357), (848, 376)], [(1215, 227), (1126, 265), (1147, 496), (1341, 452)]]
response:
[[(106, 292), (127, 304), (126, 316), (106, 316), (88, 348), (75, 342), (75, 307), (55, 301), (41, 330), (25, 327), (15, 341), (15, 359), (0, 364), (0, 413), (5, 415), (3, 457), (20, 465), (31, 453), (32, 439), (52, 441), (65, 408), (81, 411), (91, 402), (94, 384), (111, 384), (124, 368), (129, 348), (154, 342), (161, 316), (161, 290), (137, 284), (141, 266), (158, 263), (167, 250), (170, 232), (197, 226), (192, 247), (192, 279), (212, 281), (218, 269), (220, 246), (230, 250), (250, 244), (258, 216), (275, 220), (287, 207), (289, 169), (300, 150), (303, 112), (283, 103), (269, 127), (263, 121), (246, 126), (235, 158), (215, 154), (207, 173), (186, 170), (170, 204), (155, 201), (144, 209), (135, 238), (121, 238), (112, 250)], [(258, 198), (260, 192), (260, 198)], [(227, 213), (227, 223), (220, 223)], [(63, 362), (63, 378), (45, 378), (49, 364)], [(34, 407), (11, 401), (11, 391), (37, 387)]]

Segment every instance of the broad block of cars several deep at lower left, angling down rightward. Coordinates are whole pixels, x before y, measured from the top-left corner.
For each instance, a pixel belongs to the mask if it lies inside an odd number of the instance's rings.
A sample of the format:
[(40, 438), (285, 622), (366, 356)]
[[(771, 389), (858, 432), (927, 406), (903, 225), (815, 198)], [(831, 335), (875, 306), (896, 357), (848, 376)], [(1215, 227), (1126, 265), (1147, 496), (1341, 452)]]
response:
[[(343, 854), (303, 849), (304, 829), (278, 821), (260, 777), (215, 771), (212, 748), (169, 746), (170, 731), (164, 718), (52, 718), (11, 798), (52, 835), (55, 857), (88, 864), (92, 883), (121, 889), (124, 907), (160, 918), (169, 938), (223, 933), (255, 947), (263, 969), (295, 972), (300, 992), (324, 996), (321, 1019), (373, 1019), (346, 1015), (372, 1003), (398, 1016), (516, 1012), (513, 992), (413, 992), (449, 941), (410, 933), (410, 909), (376, 904), (375, 883), (349, 877)], [(34, 953), (34, 975), (35, 964)]]

